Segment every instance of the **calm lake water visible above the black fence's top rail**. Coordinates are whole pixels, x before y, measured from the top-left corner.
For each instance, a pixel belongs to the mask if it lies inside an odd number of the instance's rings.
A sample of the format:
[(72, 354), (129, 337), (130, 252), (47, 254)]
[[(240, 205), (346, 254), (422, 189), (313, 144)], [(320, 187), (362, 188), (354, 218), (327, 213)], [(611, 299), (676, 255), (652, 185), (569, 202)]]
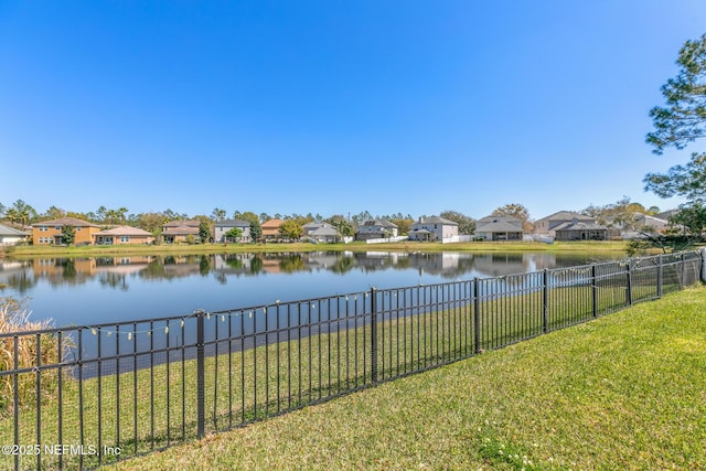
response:
[(182, 315), (570, 267), (621, 254), (280, 253), (0, 261), (0, 297), (56, 327)]

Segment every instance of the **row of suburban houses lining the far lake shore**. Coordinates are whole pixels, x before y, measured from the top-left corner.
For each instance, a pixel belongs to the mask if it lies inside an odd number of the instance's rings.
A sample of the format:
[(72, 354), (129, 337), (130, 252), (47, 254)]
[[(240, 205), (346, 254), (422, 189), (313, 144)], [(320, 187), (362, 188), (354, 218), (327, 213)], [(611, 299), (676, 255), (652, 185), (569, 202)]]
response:
[[(668, 217), (668, 213), (663, 213)], [(663, 233), (670, 226), (667, 220), (657, 216), (639, 214), (637, 224), (650, 227), (651, 231)], [(280, 234), (285, 222), (274, 218), (264, 222), (261, 227), (263, 242), (286, 242)], [(162, 225), (160, 237), (165, 244), (201, 242), (200, 224), (197, 220), (172, 221)], [(145, 229), (120, 225), (110, 228), (83, 221), (76, 217), (61, 217), (43, 221), (31, 225), (32, 244), (62, 245), (64, 226), (75, 229), (76, 245), (122, 245), (122, 244), (153, 244), (157, 237)], [(458, 223), (439, 216), (420, 217), (411, 224), (406, 234), (408, 240), (418, 242), (458, 242)], [(231, 239), (226, 234), (233, 228), (240, 231), (237, 239)], [(323, 222), (311, 222), (302, 226), (300, 239), (314, 243), (334, 243), (343, 239), (334, 226)], [(523, 222), (513, 216), (485, 216), (477, 221), (473, 239), (477, 240), (523, 240), (539, 238), (552, 240), (608, 240), (618, 238), (634, 238), (638, 234), (620, 227), (608, 227), (599, 224), (595, 217), (569, 211), (559, 211), (534, 222), (532, 232), (523, 231)], [(398, 226), (387, 220), (370, 220), (359, 225), (355, 231), (356, 240), (399, 239)], [(30, 234), (0, 224), (0, 245), (13, 245), (26, 242)], [(250, 223), (242, 220), (225, 220), (214, 223), (211, 233), (214, 243), (250, 243)], [(468, 238), (469, 236), (467, 236)], [(470, 238), (469, 238), (470, 239)], [(345, 242), (350, 242), (346, 238)]]

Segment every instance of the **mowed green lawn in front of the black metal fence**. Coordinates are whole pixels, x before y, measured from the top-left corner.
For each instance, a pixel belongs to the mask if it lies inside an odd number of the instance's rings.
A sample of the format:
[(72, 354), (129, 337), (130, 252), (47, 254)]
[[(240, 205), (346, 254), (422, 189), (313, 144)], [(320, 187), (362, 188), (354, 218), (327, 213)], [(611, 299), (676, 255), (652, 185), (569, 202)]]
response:
[(114, 465), (706, 469), (706, 288)]

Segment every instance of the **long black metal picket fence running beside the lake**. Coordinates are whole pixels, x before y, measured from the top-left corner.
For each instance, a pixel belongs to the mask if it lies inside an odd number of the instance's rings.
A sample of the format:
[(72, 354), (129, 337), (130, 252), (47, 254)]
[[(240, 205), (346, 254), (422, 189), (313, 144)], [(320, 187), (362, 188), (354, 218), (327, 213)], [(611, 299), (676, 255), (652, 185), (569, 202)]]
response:
[(703, 265), (692, 251), (2, 333), (0, 468), (148, 453), (657, 299)]

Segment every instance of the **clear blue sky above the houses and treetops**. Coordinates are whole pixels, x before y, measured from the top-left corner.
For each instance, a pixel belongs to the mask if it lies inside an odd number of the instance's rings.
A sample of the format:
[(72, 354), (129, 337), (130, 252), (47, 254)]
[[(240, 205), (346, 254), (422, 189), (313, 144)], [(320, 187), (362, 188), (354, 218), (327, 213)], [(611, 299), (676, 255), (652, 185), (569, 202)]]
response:
[(0, 0), (0, 203), (533, 218), (643, 192), (704, 0)]

